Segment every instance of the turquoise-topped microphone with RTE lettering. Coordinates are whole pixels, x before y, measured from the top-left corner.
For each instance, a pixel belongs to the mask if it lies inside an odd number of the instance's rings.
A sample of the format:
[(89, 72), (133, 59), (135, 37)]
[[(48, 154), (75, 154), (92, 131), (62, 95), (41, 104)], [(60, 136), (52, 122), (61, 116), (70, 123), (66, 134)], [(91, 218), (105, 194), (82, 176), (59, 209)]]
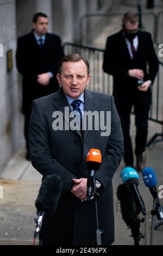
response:
[(126, 167), (122, 170), (121, 176), (123, 184), (126, 185), (127, 188), (130, 188), (134, 194), (136, 210), (139, 212), (141, 211), (143, 215), (146, 215), (145, 203), (137, 188), (139, 185), (139, 175), (136, 170), (131, 167)]

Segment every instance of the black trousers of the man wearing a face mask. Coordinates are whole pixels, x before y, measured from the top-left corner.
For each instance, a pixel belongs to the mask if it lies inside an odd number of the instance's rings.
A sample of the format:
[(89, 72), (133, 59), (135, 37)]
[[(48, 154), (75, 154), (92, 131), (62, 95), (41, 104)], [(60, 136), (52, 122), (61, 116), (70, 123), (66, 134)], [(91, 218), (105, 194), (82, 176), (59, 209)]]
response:
[[(116, 103), (116, 101), (115, 101)], [(126, 104), (123, 101), (116, 103), (117, 112), (121, 119), (121, 126), (124, 137), (124, 162), (126, 165), (133, 166), (134, 155), (133, 146), (130, 137), (130, 113), (132, 103)], [(149, 105), (143, 106), (140, 103), (134, 104), (135, 112), (135, 125), (136, 125), (136, 136), (135, 136), (135, 154), (142, 154), (146, 149), (147, 135), (148, 135), (148, 115), (149, 115)]]

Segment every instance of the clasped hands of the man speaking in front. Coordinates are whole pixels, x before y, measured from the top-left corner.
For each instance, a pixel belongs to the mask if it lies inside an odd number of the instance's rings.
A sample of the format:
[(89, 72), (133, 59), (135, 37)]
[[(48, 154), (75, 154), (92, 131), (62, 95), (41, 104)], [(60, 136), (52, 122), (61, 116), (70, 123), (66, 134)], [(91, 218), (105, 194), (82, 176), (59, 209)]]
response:
[(75, 184), (71, 189), (71, 193), (73, 193), (75, 197), (78, 197), (79, 199), (86, 201), (87, 200), (87, 197), (86, 197), (87, 179), (86, 178), (72, 179), (72, 181)]

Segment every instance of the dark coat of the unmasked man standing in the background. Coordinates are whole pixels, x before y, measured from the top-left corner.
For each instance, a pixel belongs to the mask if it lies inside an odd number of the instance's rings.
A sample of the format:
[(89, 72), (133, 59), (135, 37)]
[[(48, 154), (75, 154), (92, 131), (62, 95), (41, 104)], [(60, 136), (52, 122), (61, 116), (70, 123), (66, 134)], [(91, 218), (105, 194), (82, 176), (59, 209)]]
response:
[[(16, 63), (18, 71), (23, 76), (24, 114), (31, 112), (34, 99), (57, 92), (59, 85), (56, 74), (59, 60), (63, 56), (58, 35), (47, 33), (43, 48), (37, 44), (33, 32), (18, 38)], [(45, 72), (53, 74), (48, 86), (37, 83), (37, 75)]]

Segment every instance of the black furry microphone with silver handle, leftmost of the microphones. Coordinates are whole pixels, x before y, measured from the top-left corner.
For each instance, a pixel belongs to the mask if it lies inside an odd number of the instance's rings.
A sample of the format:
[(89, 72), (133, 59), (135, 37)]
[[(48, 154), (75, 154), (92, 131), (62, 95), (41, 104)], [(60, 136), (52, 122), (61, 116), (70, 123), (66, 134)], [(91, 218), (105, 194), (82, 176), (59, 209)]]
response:
[(55, 213), (62, 188), (62, 180), (56, 174), (49, 174), (42, 180), (39, 194), (35, 202), (38, 217), (36, 220), (37, 225), (34, 232), (34, 239), (39, 234), (45, 216)]

